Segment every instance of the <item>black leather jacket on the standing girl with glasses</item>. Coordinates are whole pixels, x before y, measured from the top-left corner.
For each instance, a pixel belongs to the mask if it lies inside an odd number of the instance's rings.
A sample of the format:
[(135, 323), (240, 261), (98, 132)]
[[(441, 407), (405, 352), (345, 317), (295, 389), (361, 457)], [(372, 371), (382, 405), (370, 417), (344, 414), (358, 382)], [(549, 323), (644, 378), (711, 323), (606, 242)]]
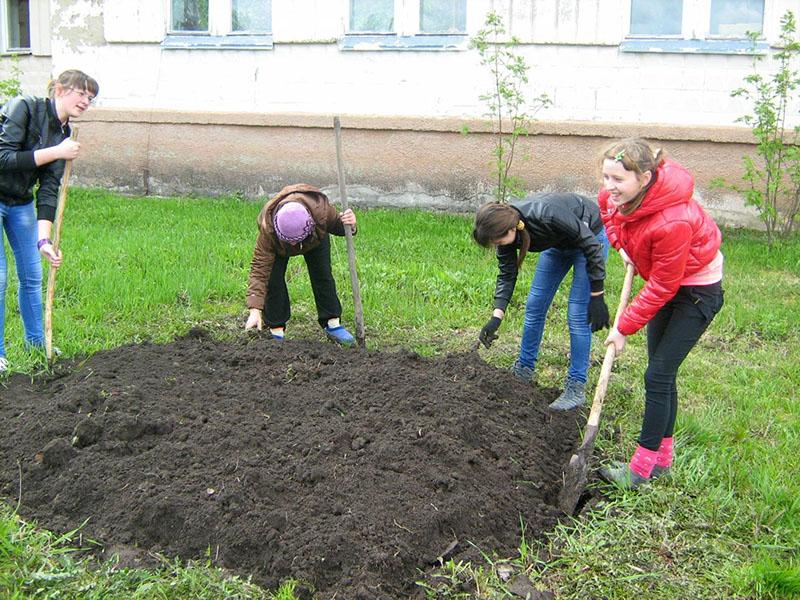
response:
[(38, 183), (38, 218), (52, 221), (58, 205), (64, 161), (37, 167), (33, 153), (57, 146), (69, 134), (69, 126), (61, 126), (55, 105), (49, 98), (19, 96), (9, 100), (0, 111), (0, 202), (27, 204), (33, 200), (33, 188)]

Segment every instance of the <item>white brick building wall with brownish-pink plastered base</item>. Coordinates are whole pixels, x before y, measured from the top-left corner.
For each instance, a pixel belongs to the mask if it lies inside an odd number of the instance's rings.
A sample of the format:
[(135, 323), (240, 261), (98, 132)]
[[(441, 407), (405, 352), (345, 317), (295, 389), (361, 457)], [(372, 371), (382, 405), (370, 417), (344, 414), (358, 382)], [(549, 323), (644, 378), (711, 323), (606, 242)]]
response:
[[(330, 124), (340, 114), (345, 127), (351, 124), (348, 180), (374, 202), (403, 197), (457, 208), (486, 197), (491, 135), (458, 133), (465, 123), (487, 129), (480, 95), (491, 80), (476, 51), (466, 44), (453, 51), (343, 50), (348, 0), (272, 4), (270, 49), (219, 50), (165, 47), (168, 0), (50, 0), (52, 73), (81, 68), (101, 86), (82, 127), (87, 151), (76, 162), (79, 181), (135, 192), (248, 195), (298, 179), (333, 186)], [(522, 42), (529, 97), (544, 92), (554, 102), (537, 113), (535, 129), (557, 133), (527, 142), (533, 159), (520, 166), (527, 185), (558, 188), (574, 180), (593, 187), (584, 173), (596, 142), (635, 131), (669, 134), (669, 148), (685, 149), (687, 157), (696, 158), (701, 146), (717, 165), (695, 161), (703, 195), (735, 200), (713, 192), (705, 174), (735, 179), (741, 172), (750, 138), (736, 119), (747, 106), (730, 92), (751, 72), (752, 57), (623, 52), (629, 4), (468, 0), (468, 34), (488, 10), (498, 11)], [(778, 18), (789, 8), (800, 12), (798, 0), (766, 0), (767, 40), (777, 38)], [(41, 70), (34, 73), (24, 83), (40, 93), (46, 77), (34, 81)], [(793, 122), (798, 113), (792, 107)]]

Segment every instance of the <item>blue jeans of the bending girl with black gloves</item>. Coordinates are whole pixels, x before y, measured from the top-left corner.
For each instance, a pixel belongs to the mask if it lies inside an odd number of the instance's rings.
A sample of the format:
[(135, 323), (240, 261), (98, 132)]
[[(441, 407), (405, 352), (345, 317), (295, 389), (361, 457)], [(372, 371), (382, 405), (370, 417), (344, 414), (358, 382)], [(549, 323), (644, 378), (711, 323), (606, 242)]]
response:
[[(608, 238), (605, 229), (597, 234), (603, 245), (604, 258), (608, 258)], [(531, 291), (525, 303), (525, 320), (522, 327), (522, 344), (519, 364), (533, 369), (539, 357), (539, 344), (544, 333), (544, 321), (556, 290), (572, 269), (572, 287), (567, 305), (569, 325), (569, 371), (567, 378), (586, 383), (589, 371), (589, 352), (592, 348), (592, 329), (589, 325), (589, 275), (586, 273), (586, 256), (580, 248), (559, 250), (549, 248), (539, 254)]]

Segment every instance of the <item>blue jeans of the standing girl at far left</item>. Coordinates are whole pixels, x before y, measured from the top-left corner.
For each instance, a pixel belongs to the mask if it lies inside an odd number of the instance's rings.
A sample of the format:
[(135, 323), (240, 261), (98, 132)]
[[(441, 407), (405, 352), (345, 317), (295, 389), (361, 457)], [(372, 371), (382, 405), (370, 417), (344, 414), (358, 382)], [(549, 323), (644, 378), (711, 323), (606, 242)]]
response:
[[(44, 345), (42, 326), (42, 262), (36, 248), (38, 229), (33, 202), (20, 206), (9, 206), (0, 202), (0, 225), (14, 252), (19, 278), (19, 312), (25, 328), (25, 343), (28, 346)], [(0, 236), (0, 356), (6, 355), (5, 315), (6, 287), (8, 285), (8, 261)]]

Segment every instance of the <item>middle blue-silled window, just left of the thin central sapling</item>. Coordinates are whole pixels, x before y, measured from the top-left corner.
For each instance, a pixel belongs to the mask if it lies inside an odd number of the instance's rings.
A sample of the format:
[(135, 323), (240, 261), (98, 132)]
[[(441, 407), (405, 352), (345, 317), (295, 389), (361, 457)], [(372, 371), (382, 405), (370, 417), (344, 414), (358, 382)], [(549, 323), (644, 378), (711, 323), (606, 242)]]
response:
[(343, 50), (462, 50), (467, 0), (350, 0)]

